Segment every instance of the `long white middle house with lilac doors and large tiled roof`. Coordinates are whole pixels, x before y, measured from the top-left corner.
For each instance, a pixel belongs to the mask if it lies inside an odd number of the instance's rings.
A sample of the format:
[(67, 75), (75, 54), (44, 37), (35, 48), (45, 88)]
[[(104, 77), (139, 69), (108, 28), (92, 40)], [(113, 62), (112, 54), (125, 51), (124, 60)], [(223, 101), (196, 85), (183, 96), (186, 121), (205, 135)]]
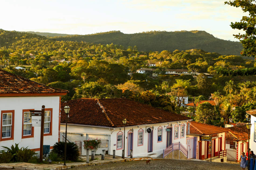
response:
[[(128, 99), (77, 99), (62, 102), (61, 107), (70, 106), (67, 138), (80, 143), (81, 154), (85, 155), (83, 141), (87, 139), (108, 140), (109, 154), (125, 157), (162, 157), (163, 150), (173, 143), (186, 144), (186, 122), (190, 118), (157, 109)], [(65, 114), (62, 109), (62, 115)], [(123, 118), (127, 119), (125, 126)], [(61, 117), (60, 131), (65, 132), (65, 117)], [(148, 133), (147, 130), (151, 130)], [(124, 144), (125, 143), (125, 144)]]

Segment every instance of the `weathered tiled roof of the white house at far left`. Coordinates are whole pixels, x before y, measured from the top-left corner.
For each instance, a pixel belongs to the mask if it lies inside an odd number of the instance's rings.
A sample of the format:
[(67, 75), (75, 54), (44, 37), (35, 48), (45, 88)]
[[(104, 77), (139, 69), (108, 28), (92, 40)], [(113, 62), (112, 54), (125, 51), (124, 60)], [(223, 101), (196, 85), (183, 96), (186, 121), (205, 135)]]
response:
[(39, 84), (29, 79), (0, 69), (0, 96), (21, 94), (56, 94), (65, 95), (68, 91)]

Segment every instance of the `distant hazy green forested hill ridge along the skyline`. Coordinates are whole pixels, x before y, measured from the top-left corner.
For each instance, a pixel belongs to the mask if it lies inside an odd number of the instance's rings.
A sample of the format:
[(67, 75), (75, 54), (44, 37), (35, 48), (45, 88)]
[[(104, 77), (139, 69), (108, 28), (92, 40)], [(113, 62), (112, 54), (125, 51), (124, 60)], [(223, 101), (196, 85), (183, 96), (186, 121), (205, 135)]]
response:
[(88, 35), (68, 35), (54, 37), (63, 41), (83, 41), (96, 44), (118, 44), (124, 47), (137, 46), (138, 51), (175, 51), (201, 49), (223, 55), (240, 55), (239, 42), (222, 40), (205, 31), (143, 32), (123, 34), (120, 31)]

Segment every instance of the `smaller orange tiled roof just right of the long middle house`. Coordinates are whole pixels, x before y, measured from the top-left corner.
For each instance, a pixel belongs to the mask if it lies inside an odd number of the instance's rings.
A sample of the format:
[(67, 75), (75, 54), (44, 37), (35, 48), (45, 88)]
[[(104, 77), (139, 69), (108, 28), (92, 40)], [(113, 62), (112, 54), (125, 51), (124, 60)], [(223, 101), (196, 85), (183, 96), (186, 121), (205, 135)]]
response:
[(190, 133), (189, 134), (204, 136), (204, 135), (212, 135), (212, 134), (218, 134), (218, 133), (230, 131), (230, 129), (227, 129), (227, 128), (222, 128), (222, 127), (218, 127), (218, 126), (214, 126), (214, 125), (199, 123), (196, 121), (190, 121), (188, 123), (190, 123)]

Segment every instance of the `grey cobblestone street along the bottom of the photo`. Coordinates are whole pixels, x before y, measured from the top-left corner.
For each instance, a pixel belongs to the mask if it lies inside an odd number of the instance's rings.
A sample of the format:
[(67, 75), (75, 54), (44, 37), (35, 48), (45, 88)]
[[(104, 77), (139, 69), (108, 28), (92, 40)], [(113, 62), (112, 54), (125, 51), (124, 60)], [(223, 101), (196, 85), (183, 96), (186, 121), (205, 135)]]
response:
[(154, 160), (118, 162), (89, 167), (77, 167), (72, 170), (241, 170), (238, 164), (205, 161)]

